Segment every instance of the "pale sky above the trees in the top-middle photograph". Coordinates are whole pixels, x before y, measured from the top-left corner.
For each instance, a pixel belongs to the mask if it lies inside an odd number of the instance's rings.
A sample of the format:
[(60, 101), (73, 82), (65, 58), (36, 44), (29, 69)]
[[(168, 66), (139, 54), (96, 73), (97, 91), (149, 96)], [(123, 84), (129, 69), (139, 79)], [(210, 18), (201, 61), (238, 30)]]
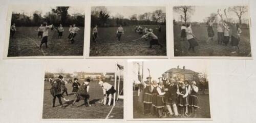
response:
[[(94, 10), (95, 7), (92, 7), (92, 10)], [(123, 15), (124, 18), (129, 19), (133, 14), (144, 14), (145, 12), (154, 12), (156, 10), (162, 10), (163, 13), (165, 12), (165, 7), (143, 7), (143, 6), (106, 6), (106, 9), (110, 12), (110, 16), (115, 16), (117, 14)]]

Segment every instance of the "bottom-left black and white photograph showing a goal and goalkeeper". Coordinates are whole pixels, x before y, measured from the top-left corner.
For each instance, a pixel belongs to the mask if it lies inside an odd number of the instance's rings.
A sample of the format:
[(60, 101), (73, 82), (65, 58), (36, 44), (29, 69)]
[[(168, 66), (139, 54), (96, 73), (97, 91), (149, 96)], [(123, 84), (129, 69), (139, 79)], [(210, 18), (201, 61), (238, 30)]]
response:
[(49, 61), (42, 118), (123, 119), (123, 69), (118, 61)]

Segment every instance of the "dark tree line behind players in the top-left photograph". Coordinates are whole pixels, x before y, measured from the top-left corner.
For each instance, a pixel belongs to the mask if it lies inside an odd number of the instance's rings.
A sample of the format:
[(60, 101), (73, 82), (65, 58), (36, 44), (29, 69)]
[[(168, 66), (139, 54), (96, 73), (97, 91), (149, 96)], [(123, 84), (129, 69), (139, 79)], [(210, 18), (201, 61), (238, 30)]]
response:
[(76, 26), (84, 26), (84, 15), (75, 13), (70, 15), (68, 13), (70, 7), (56, 7), (44, 16), (40, 11), (34, 11), (32, 16), (24, 13), (12, 13), (11, 22), (16, 26), (39, 26), (43, 22), (53, 24), (55, 26), (62, 24), (62, 26), (69, 26), (76, 24)]

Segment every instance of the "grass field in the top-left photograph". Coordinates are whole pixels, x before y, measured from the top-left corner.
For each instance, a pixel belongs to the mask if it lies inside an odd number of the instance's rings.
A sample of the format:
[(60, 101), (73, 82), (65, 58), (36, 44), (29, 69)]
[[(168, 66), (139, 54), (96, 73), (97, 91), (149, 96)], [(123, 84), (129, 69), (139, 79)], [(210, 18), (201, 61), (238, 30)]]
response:
[(37, 38), (35, 29), (38, 27), (16, 27), (17, 31), (13, 38), (10, 38), (8, 57), (10, 56), (82, 56), (84, 27), (79, 27), (75, 37), (75, 43), (71, 44), (67, 37), (69, 27), (64, 27), (61, 39), (58, 39), (58, 32), (49, 30), (48, 48), (45, 44), (40, 49), (41, 39)]

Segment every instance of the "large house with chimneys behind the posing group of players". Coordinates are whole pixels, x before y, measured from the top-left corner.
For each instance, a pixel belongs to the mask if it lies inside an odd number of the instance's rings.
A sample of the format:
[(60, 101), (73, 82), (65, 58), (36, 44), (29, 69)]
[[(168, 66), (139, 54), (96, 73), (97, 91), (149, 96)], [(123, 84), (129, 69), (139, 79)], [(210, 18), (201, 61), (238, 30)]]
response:
[(185, 66), (183, 66), (182, 69), (180, 69), (180, 66), (177, 66), (177, 68), (172, 68), (166, 72), (168, 78), (174, 78), (174, 79), (184, 79), (188, 81), (192, 81), (198, 78), (198, 74), (195, 71), (185, 69)]

